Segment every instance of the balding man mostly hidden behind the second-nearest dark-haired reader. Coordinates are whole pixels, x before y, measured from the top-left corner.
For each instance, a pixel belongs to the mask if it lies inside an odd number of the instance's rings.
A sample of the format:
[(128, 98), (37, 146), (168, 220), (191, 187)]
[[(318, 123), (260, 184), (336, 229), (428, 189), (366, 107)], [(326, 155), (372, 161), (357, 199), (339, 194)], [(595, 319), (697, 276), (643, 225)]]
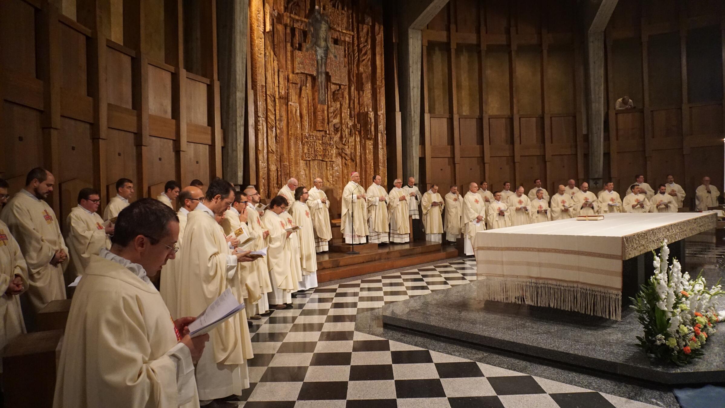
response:
[[(194, 186), (184, 187), (176, 197), (179, 203), (179, 210), (176, 217), (179, 220), (179, 236), (176, 241), (177, 248), (181, 248), (183, 242), (183, 233), (186, 229), (186, 216), (189, 212), (194, 211), (196, 205), (204, 201), (204, 193)], [(178, 287), (176, 279), (178, 270), (181, 267), (181, 254), (176, 253), (176, 257), (166, 261), (166, 265), (161, 268), (161, 276), (159, 277), (159, 293), (171, 312), (172, 316), (178, 316), (176, 310)]]

